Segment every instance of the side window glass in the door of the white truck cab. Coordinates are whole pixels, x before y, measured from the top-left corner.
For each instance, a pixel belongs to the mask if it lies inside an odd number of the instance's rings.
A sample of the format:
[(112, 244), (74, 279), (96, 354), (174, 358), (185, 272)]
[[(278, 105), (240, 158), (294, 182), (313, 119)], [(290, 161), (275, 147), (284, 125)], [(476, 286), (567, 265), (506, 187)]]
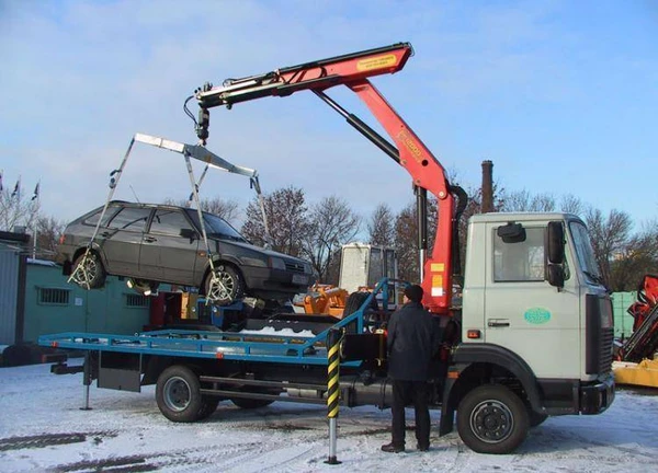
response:
[(494, 232), (494, 280), (544, 280), (544, 228), (525, 228), (525, 240), (513, 243)]

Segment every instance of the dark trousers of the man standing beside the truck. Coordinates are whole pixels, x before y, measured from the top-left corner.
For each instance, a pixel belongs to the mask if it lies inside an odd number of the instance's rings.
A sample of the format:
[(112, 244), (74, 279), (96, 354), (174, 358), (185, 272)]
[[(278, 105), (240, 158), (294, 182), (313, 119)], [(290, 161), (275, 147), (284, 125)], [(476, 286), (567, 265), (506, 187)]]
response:
[(420, 448), (430, 446), (429, 387), (426, 381), (393, 381), (393, 445), (405, 446), (405, 406), (413, 403), (416, 440)]

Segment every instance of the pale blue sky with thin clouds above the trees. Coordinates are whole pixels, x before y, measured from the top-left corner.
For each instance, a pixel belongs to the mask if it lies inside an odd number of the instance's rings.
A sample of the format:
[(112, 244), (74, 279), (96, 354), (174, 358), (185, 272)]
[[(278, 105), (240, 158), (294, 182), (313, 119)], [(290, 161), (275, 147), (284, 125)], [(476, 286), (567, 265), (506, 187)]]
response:
[[(46, 214), (103, 204), (135, 132), (194, 143), (182, 104), (205, 81), (410, 42), (373, 79), (458, 183), (494, 161), (506, 189), (572, 194), (639, 228), (658, 215), (658, 3), (654, 1), (0, 0), (0, 170)], [(349, 91), (329, 94), (373, 124)], [(195, 104), (194, 111), (196, 109)], [(311, 93), (212, 111), (208, 148), (264, 192), (337, 195), (363, 216), (411, 201), (408, 174)], [(196, 168), (200, 172), (201, 166)], [(116, 198), (185, 198), (178, 154), (138, 146)], [(252, 197), (215, 172), (207, 197)]]

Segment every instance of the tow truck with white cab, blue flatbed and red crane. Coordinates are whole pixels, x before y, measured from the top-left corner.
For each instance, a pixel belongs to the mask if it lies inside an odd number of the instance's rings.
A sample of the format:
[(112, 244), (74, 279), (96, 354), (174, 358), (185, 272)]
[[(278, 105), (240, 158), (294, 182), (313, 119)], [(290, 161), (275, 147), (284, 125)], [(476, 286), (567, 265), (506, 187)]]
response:
[[(185, 104), (193, 99), (198, 103), (195, 126), (205, 145), (211, 108), (310, 91), (409, 173), (420, 227), (422, 302), (442, 331), (429, 380), (432, 406), (441, 408), (439, 434), (453, 430), (456, 414), (460, 437), (470, 449), (509, 453), (530, 427), (548, 416), (599, 414), (611, 405), (612, 304), (597, 276), (585, 223), (558, 212), (472, 217), (462, 302), (453, 303), (465, 193), (451, 185), (441, 163), (368, 80), (400, 71), (412, 54), (410, 44), (398, 43), (229, 79), (220, 86), (206, 83)], [(327, 95), (338, 85), (366, 104), (393, 142)], [(428, 192), (439, 211), (430, 251)], [(388, 300), (386, 291), (394, 282), (383, 279), (359, 310), (318, 334), (65, 333), (43, 336), (39, 344), (83, 351), (84, 383), (98, 379), (100, 388), (133, 391), (155, 383), (158, 407), (167, 418), (195, 422), (226, 399), (241, 407), (274, 401), (325, 403), (327, 347), (333, 347), (328, 335), (339, 331), (340, 404), (385, 408), (392, 402), (382, 330), (386, 314), (373, 318), (370, 312), (378, 293)], [(53, 367), (60, 373), (78, 370), (66, 364)]]

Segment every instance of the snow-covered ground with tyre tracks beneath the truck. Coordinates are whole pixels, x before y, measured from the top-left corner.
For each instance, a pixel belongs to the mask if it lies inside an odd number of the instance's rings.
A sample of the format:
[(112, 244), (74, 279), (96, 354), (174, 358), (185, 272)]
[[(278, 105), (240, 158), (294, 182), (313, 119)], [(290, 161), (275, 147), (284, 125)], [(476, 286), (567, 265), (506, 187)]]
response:
[[(456, 432), (432, 436), (420, 453), (379, 451), (390, 411), (342, 409), (338, 460), (329, 453), (325, 409), (275, 403), (241, 411), (229, 402), (198, 424), (160, 415), (154, 389), (91, 389), (81, 411), (81, 374), (47, 365), (0, 368), (0, 471), (8, 472), (658, 472), (658, 392), (619, 390), (599, 416), (549, 418), (514, 454), (468, 450)], [(409, 415), (411, 413), (409, 412)], [(432, 413), (434, 426), (439, 413)], [(408, 431), (408, 446), (413, 434)]]

